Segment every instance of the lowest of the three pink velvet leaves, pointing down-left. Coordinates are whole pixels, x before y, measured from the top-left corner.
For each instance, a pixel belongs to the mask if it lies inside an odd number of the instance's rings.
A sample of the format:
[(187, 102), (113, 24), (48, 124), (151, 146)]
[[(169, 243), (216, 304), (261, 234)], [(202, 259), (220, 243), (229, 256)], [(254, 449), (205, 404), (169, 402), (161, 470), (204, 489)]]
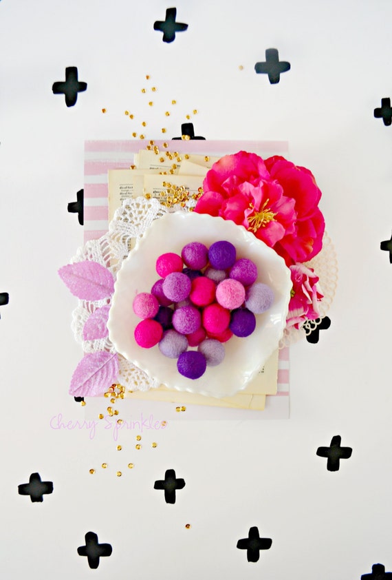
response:
[(69, 394), (74, 397), (103, 395), (116, 382), (118, 375), (117, 353), (88, 353), (79, 362), (72, 375)]

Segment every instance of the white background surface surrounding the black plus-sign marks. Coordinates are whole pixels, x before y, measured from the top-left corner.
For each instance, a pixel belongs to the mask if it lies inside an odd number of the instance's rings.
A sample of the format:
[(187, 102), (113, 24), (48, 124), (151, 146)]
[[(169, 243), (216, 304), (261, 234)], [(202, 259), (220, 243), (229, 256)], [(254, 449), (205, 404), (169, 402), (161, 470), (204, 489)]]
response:
[[(0, 308), (1, 571), (330, 580), (359, 579), (378, 562), (392, 570), (392, 267), (380, 251), (392, 228), (391, 127), (373, 118), (392, 96), (391, 3), (179, 0), (189, 28), (166, 45), (153, 22), (168, 6), (0, 2), (0, 291), (10, 293)], [(267, 48), (291, 63), (277, 85), (254, 73)], [(88, 84), (71, 108), (52, 94), (67, 66)], [(145, 74), (158, 88), (154, 115)], [(110, 431), (89, 439), (86, 428), (50, 426), (59, 413), (83, 419), (67, 395), (81, 356), (75, 299), (56, 273), (83, 239), (67, 203), (83, 184), (85, 139), (131, 138), (126, 109), (149, 120), (148, 138), (162, 126), (177, 136), (193, 108), (196, 134), (287, 139), (294, 163), (314, 172), (340, 268), (331, 328), (291, 349), (289, 421), (187, 422), (173, 408), (157, 417), (164, 431), (143, 433), (142, 450), (131, 432), (118, 452)], [(353, 454), (330, 473), (316, 449), (334, 435)], [(174, 506), (153, 490), (168, 468), (186, 480)], [(36, 471), (54, 482), (43, 504), (17, 494)], [(254, 564), (235, 548), (250, 526), (273, 540)], [(76, 552), (89, 530), (113, 546), (94, 572)]]

